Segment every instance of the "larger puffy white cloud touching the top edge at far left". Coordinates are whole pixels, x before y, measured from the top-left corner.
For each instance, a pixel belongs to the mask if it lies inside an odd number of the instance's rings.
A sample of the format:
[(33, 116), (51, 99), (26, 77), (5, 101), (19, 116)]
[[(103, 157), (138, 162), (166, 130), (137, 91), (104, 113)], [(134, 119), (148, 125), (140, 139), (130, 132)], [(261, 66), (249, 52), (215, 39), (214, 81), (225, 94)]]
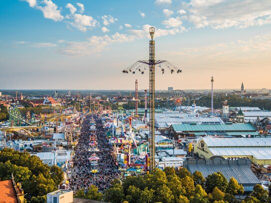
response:
[(44, 6), (36, 6), (43, 12), (45, 18), (52, 19), (54, 21), (61, 21), (64, 17), (60, 14), (60, 10), (57, 9), (57, 5), (51, 0), (41, 1)]

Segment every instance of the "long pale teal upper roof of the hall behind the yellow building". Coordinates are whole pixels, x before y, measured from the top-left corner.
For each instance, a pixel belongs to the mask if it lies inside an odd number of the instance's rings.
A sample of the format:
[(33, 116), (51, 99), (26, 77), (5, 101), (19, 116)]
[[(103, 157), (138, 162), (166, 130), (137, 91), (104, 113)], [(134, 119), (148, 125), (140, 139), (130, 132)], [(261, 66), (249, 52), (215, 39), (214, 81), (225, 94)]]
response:
[(176, 132), (202, 132), (202, 131), (256, 131), (251, 124), (177, 124), (172, 125)]

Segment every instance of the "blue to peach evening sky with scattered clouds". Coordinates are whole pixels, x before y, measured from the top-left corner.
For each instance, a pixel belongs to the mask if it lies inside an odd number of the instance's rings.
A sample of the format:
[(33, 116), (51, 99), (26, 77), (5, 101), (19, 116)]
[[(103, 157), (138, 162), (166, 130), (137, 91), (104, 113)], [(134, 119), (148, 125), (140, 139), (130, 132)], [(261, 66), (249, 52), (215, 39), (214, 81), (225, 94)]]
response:
[(0, 0), (0, 89), (271, 89), (270, 0)]

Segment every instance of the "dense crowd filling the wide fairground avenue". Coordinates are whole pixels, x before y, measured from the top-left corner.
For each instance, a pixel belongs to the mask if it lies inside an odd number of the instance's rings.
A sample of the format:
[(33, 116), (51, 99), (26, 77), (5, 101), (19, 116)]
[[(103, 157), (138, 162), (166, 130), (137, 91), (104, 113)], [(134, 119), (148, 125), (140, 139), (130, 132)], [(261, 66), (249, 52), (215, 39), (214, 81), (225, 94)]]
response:
[[(74, 173), (70, 177), (70, 188), (73, 191), (84, 189), (87, 192), (88, 187), (95, 185), (98, 187), (99, 192), (103, 192), (109, 188), (110, 182), (114, 179), (119, 178), (119, 171), (115, 165), (113, 149), (106, 138), (105, 129), (102, 121), (99, 117), (95, 117), (96, 130), (90, 130), (90, 120), (93, 116), (87, 115), (83, 120), (81, 127), (81, 134), (78, 139), (78, 144), (75, 149), (74, 162)], [(88, 158), (93, 156), (93, 152), (89, 152), (90, 136), (95, 134), (96, 147), (99, 150), (95, 152), (95, 156), (100, 159), (97, 161), (98, 167), (97, 173), (92, 173), (91, 164)]]

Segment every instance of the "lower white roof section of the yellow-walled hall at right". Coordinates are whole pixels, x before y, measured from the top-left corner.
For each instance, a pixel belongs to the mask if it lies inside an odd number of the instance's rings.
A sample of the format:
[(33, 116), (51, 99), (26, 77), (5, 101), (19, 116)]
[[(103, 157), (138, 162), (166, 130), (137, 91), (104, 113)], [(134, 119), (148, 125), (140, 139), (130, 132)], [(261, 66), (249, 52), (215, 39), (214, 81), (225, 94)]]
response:
[(271, 147), (211, 147), (209, 148), (209, 151), (212, 152), (215, 156), (253, 156), (258, 160), (271, 160)]

